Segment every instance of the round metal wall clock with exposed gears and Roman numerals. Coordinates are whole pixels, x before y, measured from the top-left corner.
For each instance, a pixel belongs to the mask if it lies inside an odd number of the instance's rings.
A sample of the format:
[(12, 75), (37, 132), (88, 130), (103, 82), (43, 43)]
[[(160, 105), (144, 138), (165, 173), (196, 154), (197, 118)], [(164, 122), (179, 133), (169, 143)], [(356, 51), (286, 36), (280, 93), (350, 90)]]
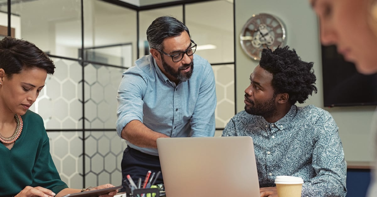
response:
[(275, 50), (285, 45), (284, 24), (273, 15), (253, 15), (244, 25), (240, 35), (241, 47), (254, 60), (261, 59), (264, 48)]

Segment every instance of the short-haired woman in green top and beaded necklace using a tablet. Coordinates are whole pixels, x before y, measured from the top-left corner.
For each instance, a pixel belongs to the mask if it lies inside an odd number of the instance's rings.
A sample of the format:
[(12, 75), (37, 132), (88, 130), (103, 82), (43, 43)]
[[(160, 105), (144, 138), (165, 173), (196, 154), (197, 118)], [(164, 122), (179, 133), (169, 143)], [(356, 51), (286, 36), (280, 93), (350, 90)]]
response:
[[(63, 196), (89, 190), (70, 189), (61, 181), (43, 120), (28, 110), (54, 69), (34, 44), (11, 37), (0, 41), (0, 197)], [(109, 187), (113, 185), (91, 190)]]

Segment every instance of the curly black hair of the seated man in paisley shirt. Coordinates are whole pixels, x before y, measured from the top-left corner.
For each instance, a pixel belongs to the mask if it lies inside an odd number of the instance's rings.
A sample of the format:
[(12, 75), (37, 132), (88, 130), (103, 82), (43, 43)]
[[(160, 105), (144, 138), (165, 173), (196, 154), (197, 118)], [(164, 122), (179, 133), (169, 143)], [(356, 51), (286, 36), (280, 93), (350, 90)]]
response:
[(317, 93), (313, 62), (302, 61), (289, 46), (277, 47), (274, 51), (263, 49), (259, 65), (272, 73), (274, 93), (288, 93), (292, 105), (297, 101), (303, 103), (313, 91)]

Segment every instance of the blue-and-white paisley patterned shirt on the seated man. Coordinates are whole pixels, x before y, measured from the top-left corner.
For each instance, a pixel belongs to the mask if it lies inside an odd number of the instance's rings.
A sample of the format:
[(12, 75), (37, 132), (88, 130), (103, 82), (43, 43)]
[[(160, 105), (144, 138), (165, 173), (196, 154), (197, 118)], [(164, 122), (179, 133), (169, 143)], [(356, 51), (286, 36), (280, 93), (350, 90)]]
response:
[(246, 111), (236, 114), (222, 136), (250, 136), (254, 141), (259, 186), (275, 186), (276, 176), (302, 177), (302, 197), (344, 197), (346, 162), (338, 127), (327, 111), (292, 105), (269, 123)]

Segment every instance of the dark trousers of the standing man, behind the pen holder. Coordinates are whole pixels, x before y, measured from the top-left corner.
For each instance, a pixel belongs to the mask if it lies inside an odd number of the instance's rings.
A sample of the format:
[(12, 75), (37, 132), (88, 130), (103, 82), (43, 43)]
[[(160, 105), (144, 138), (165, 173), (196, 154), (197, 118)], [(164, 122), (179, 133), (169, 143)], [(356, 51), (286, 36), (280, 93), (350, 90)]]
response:
[[(124, 189), (125, 187), (128, 187), (125, 183), (128, 182), (126, 177), (127, 174), (131, 176), (133, 182), (135, 182), (135, 184), (137, 185), (139, 178), (141, 178), (143, 184), (145, 176), (149, 170), (152, 171), (152, 173), (154, 172), (155, 175), (158, 171), (161, 171), (160, 159), (158, 156), (146, 154), (130, 147), (127, 147), (123, 152), (121, 166), (123, 185), (123, 188), (121, 189), (122, 192), (126, 191), (126, 189)], [(153, 180), (155, 178), (156, 177), (153, 177)], [(162, 173), (160, 173), (160, 176), (157, 177), (155, 185), (159, 183), (164, 183), (164, 180), (162, 179)]]

